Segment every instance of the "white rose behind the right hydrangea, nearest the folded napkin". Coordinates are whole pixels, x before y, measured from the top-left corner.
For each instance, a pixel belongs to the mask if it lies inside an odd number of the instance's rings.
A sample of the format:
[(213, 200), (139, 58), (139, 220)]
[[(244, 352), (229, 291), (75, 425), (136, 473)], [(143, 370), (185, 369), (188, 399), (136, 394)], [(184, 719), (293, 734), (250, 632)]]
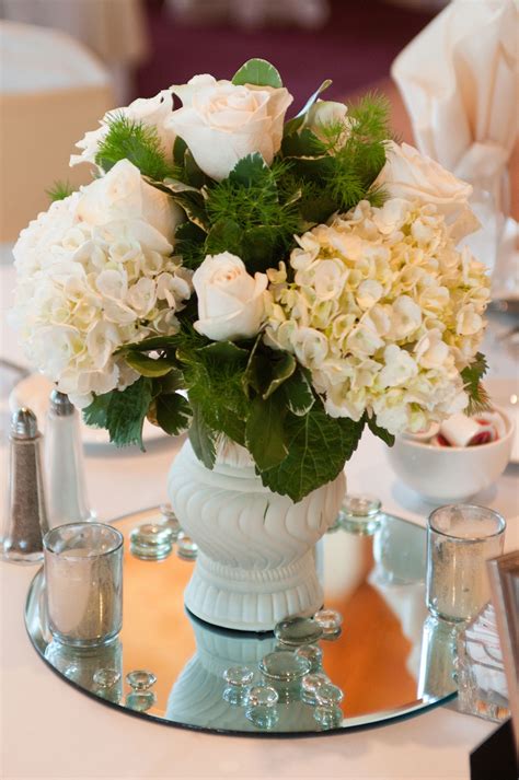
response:
[(408, 143), (387, 143), (388, 159), (374, 187), (384, 187), (392, 198), (434, 203), (449, 224), (457, 240), (480, 228), (468, 205), (472, 187), (457, 178), (439, 163), (422, 155)]

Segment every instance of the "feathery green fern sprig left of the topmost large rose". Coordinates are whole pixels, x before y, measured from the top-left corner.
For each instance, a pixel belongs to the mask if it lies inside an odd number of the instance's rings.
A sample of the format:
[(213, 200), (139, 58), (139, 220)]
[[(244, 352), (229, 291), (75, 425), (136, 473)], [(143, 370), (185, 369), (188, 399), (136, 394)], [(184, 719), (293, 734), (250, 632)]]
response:
[(125, 159), (157, 182), (176, 177), (177, 170), (166, 159), (154, 127), (114, 114), (108, 119), (108, 132), (99, 145), (95, 162), (103, 171), (109, 171)]

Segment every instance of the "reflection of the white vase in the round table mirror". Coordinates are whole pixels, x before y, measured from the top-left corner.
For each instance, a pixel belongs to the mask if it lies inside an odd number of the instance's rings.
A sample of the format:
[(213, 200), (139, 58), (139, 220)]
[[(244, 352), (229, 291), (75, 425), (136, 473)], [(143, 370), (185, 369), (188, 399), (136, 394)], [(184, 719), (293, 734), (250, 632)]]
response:
[[(277, 648), (277, 640), (272, 633), (226, 631), (189, 614), (188, 617), (196, 652), (171, 689), (168, 720), (222, 731), (260, 731), (246, 719), (244, 706), (230, 705), (223, 699), (223, 672), (231, 666), (249, 666), (255, 673), (253, 685), (266, 683), (258, 664)], [(319, 727), (313, 708), (300, 700), (278, 703), (276, 708), (279, 720), (272, 731), (316, 731)]]

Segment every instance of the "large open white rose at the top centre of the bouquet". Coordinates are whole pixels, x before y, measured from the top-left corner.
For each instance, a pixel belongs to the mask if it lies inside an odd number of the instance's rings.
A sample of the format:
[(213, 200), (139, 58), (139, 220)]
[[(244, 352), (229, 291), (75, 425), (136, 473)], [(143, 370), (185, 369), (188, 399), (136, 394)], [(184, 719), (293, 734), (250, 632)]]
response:
[(208, 176), (226, 178), (239, 160), (254, 152), (272, 163), (292, 102), (285, 88), (237, 86), (212, 75), (195, 75), (172, 91), (183, 107), (173, 112), (168, 127), (184, 139)]

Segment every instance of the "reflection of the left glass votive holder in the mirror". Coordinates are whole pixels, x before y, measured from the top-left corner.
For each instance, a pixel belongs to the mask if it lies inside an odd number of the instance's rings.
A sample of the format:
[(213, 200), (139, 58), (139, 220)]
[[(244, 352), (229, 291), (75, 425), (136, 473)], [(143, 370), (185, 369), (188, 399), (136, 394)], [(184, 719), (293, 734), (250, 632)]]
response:
[(123, 644), (118, 639), (99, 648), (74, 648), (54, 639), (46, 660), (81, 688), (118, 703), (123, 696)]

